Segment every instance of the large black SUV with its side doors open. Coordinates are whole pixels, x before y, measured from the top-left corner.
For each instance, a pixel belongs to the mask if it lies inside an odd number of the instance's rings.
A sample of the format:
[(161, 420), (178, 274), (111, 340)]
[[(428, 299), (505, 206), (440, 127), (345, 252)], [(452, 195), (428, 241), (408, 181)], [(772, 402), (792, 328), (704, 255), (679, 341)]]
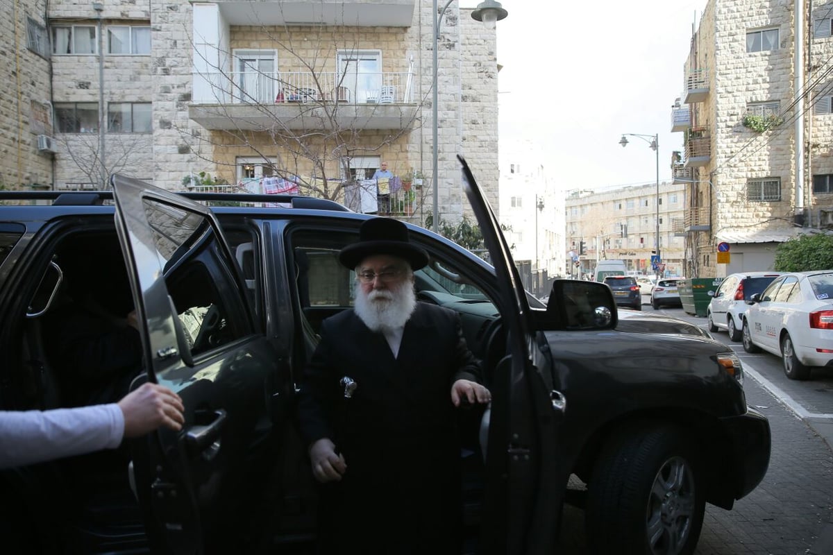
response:
[[(462, 165), (494, 266), (409, 230), (431, 258), (418, 298), (460, 314), (493, 396), (461, 411), (467, 548), (552, 553), (574, 475), (594, 553), (691, 553), (705, 503), (731, 508), (769, 463), (740, 360), (707, 338), (616, 330), (603, 284), (556, 280), (546, 307), (526, 295)], [(318, 490), (294, 394), (322, 320), (352, 306), (337, 253), (369, 216), (304, 197), (208, 208), (121, 176), (112, 189), (0, 195), (2, 409), (65, 406), (67, 384), (93, 393), (47, 354), (44, 322), (74, 283), (137, 311), (132, 387), (176, 390), (186, 424), (0, 473), (4, 553), (312, 553)]]

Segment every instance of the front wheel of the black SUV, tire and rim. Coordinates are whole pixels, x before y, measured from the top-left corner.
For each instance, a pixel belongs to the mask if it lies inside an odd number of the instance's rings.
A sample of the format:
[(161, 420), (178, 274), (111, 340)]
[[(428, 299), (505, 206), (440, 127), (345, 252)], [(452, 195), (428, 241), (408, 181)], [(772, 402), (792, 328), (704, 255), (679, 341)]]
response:
[(589, 552), (693, 553), (706, 506), (696, 446), (671, 424), (611, 437), (588, 484)]

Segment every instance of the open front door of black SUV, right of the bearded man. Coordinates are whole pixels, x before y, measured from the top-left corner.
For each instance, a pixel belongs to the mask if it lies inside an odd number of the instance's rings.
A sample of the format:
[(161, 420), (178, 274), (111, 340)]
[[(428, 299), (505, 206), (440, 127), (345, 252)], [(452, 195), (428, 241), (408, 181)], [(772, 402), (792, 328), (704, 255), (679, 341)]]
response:
[(526, 291), (501, 227), (466, 161), (463, 188), (500, 286), (506, 358), (492, 380), (481, 545), (486, 553), (555, 553), (566, 477), (558, 457), (563, 395), (538, 349)]

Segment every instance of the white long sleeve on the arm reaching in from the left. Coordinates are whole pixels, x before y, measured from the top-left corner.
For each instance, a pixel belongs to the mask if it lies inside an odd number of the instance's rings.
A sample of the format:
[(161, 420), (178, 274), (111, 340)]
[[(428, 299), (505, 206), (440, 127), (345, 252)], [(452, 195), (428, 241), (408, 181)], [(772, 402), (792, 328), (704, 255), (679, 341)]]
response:
[(117, 448), (123, 434), (124, 414), (115, 403), (0, 411), (0, 468)]

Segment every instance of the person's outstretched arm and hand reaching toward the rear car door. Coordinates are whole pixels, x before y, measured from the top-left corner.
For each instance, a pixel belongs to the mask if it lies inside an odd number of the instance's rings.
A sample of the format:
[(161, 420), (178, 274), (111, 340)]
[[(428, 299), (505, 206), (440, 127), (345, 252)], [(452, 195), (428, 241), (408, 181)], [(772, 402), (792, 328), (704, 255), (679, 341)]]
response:
[(117, 448), (160, 426), (182, 429), (179, 395), (142, 384), (118, 403), (77, 409), (0, 411), (0, 468)]

